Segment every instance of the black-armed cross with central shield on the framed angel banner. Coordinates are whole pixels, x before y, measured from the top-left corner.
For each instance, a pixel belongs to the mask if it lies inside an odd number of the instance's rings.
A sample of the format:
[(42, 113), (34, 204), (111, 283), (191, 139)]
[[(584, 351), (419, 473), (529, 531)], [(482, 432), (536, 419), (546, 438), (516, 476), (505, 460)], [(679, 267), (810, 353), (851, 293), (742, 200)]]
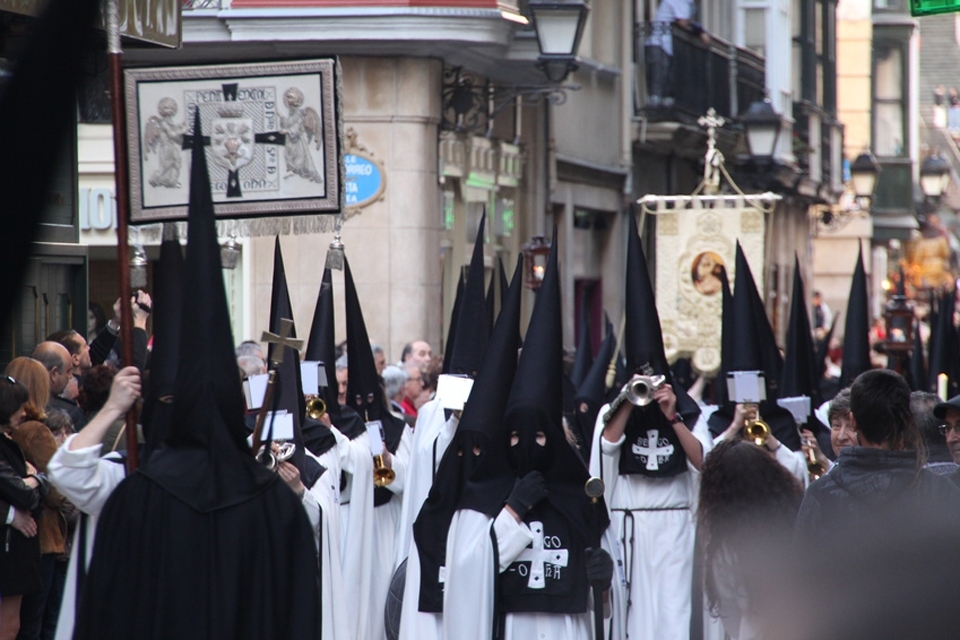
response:
[[(219, 118), (213, 119), (212, 135), (203, 136), (203, 145), (214, 150), (211, 160), (227, 170), (227, 197), (240, 198), (240, 168), (253, 161), (255, 144), (284, 145), (287, 136), (279, 131), (254, 133), (253, 119), (245, 118), (243, 103), (237, 100), (239, 83), (224, 83), (223, 102), (217, 106)], [(199, 108), (199, 105), (198, 105)], [(183, 148), (193, 145), (193, 136), (183, 135)]]

